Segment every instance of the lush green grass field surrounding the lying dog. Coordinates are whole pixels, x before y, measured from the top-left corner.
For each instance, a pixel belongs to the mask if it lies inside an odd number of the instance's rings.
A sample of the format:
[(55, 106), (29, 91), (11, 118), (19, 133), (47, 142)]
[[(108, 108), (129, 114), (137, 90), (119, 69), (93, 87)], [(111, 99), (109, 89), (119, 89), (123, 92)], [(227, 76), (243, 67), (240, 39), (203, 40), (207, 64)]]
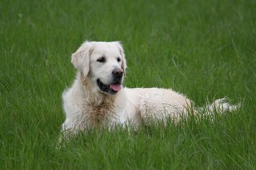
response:
[[(256, 169), (256, 2), (0, 2), (0, 169)], [(85, 40), (122, 41), (127, 87), (242, 108), (138, 135), (91, 131), (56, 149), (61, 92)]]

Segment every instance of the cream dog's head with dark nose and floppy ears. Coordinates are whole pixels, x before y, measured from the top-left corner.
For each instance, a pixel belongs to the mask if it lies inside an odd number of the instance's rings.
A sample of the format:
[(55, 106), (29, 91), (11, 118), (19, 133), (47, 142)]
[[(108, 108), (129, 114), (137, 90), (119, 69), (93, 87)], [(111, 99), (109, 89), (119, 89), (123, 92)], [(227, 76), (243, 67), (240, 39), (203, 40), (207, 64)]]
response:
[(86, 41), (72, 54), (71, 62), (100, 92), (116, 94), (122, 89), (126, 61), (120, 42)]

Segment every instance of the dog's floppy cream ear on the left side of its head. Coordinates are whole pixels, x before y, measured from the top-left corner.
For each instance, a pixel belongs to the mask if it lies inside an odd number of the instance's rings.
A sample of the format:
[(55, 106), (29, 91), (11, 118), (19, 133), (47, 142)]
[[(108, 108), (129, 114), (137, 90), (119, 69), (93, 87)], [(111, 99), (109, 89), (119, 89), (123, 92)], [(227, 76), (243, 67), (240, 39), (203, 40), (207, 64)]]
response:
[(90, 58), (93, 52), (93, 45), (85, 41), (78, 50), (72, 54), (71, 62), (77, 70), (82, 71), (84, 76), (90, 71)]

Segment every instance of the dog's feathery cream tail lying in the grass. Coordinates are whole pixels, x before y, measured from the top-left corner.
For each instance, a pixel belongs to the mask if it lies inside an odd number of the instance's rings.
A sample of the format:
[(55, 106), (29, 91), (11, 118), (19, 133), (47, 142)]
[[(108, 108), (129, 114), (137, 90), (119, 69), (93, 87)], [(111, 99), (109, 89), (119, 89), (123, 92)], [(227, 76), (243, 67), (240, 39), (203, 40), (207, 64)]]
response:
[(239, 110), (239, 108), (241, 108), (241, 103), (231, 104), (230, 99), (228, 99), (228, 97), (224, 97), (222, 99), (217, 99), (212, 104), (207, 104), (206, 106), (198, 109), (199, 111), (202, 111), (207, 114), (212, 114), (212, 113), (221, 114), (226, 111), (233, 112), (233, 111)]

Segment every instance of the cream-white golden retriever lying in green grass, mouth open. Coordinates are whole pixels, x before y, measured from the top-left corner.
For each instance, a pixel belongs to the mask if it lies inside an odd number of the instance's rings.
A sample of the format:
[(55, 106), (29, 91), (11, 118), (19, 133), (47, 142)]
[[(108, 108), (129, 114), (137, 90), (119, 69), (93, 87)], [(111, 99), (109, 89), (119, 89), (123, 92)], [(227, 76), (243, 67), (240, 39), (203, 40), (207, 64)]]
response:
[[(98, 125), (114, 127), (129, 122), (138, 127), (148, 118), (167, 117), (178, 121), (193, 109), (191, 100), (171, 89), (122, 87), (126, 61), (117, 41), (86, 41), (72, 54), (71, 62), (77, 75), (72, 87), (63, 92), (67, 118), (62, 131), (66, 137)], [(237, 107), (218, 99), (207, 110), (223, 112)]]

